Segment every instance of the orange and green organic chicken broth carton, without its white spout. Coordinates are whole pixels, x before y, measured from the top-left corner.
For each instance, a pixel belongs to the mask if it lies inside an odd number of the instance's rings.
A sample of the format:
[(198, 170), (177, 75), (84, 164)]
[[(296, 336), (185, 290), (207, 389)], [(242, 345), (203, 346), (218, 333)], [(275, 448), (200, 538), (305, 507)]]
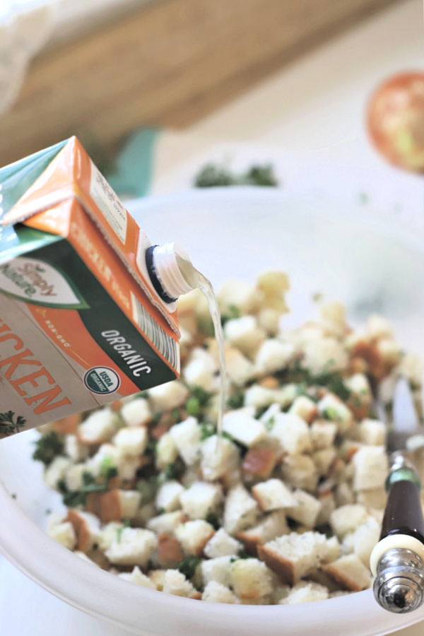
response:
[(178, 377), (151, 244), (78, 139), (1, 169), (0, 206), (0, 437)]

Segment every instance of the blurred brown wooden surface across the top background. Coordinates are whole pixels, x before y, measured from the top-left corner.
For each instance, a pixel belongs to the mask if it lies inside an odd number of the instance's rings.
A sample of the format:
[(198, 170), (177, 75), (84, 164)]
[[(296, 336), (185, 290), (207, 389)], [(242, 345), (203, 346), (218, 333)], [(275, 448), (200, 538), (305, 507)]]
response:
[(187, 126), (396, 1), (157, 0), (133, 9), (33, 61), (0, 119), (0, 165), (71, 134), (96, 160), (137, 126)]

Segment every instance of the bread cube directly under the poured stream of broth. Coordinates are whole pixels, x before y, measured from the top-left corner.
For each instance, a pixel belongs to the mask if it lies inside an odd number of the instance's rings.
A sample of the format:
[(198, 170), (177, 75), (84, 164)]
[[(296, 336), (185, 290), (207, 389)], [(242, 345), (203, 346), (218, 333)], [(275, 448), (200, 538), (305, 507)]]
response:
[(235, 444), (223, 437), (211, 435), (201, 444), (201, 472), (206, 481), (219, 479), (225, 473), (237, 469), (240, 464), (240, 451)]

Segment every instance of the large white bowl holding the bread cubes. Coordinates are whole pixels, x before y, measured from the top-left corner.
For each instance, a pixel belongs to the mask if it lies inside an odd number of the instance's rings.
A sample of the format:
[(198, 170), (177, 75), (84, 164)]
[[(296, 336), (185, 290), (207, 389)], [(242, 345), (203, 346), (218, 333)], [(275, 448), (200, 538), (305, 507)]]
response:
[[(290, 199), (271, 189), (212, 189), (129, 205), (154, 242), (179, 240), (215, 285), (287, 271), (293, 309), (287, 324), (314, 315), (312, 294), (346, 302), (353, 322), (389, 317), (401, 343), (424, 355), (424, 237), (341, 201)], [(1, 386), (0, 386), (1, 391)], [(424, 618), (394, 616), (370, 590), (299, 606), (230, 606), (169, 596), (102, 572), (50, 539), (45, 510), (60, 498), (30, 460), (33, 431), (0, 442), (0, 549), (45, 589), (136, 634), (315, 636), (387, 634)], [(13, 500), (9, 493), (17, 493)]]

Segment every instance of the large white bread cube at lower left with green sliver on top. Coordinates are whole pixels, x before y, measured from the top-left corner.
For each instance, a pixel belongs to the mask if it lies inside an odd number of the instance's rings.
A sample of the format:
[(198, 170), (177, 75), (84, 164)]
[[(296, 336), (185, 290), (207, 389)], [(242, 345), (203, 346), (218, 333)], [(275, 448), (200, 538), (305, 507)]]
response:
[(145, 569), (153, 551), (158, 547), (158, 537), (150, 530), (124, 528), (105, 556), (114, 565), (139, 565)]

